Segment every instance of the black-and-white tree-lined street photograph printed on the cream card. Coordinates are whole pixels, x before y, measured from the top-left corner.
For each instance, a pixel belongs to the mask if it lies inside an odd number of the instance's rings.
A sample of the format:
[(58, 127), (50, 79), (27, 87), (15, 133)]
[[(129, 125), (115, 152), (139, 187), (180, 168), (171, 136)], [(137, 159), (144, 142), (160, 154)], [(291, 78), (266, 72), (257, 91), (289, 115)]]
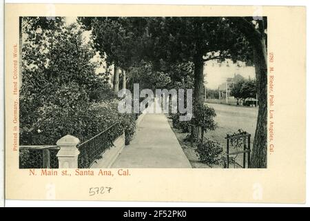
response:
[(267, 17), (19, 27), (19, 168), (267, 167)]

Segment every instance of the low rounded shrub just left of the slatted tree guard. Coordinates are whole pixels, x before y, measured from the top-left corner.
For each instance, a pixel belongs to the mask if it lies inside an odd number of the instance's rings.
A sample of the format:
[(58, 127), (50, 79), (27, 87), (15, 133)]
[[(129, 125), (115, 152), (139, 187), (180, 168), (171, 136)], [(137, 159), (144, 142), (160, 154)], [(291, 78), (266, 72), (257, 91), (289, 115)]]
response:
[(198, 144), (196, 152), (200, 158), (200, 162), (212, 166), (212, 164), (220, 164), (222, 160), (221, 153), (223, 152), (223, 148), (218, 142), (205, 140), (203, 144)]

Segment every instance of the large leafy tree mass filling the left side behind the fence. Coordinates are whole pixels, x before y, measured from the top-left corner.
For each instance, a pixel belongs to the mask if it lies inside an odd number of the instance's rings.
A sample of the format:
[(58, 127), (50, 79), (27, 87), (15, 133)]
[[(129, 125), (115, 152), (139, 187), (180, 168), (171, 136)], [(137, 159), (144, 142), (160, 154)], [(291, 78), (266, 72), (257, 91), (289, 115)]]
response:
[[(34, 18), (37, 21), (37, 18)], [(92, 95), (103, 87), (90, 62), (94, 50), (75, 26), (55, 23), (54, 29), (23, 19), (23, 86), (20, 91), (21, 144), (54, 144), (68, 133), (92, 134), (87, 111)], [(79, 65), (76, 65), (79, 64)]]

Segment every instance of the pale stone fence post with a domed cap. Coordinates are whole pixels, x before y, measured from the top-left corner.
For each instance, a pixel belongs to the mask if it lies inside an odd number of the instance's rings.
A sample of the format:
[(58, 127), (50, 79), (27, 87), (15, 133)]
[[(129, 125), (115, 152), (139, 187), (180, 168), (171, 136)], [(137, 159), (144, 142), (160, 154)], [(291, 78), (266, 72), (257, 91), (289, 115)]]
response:
[(61, 137), (56, 144), (60, 147), (58, 157), (59, 168), (78, 168), (78, 156), (80, 151), (76, 148), (80, 140), (72, 135)]

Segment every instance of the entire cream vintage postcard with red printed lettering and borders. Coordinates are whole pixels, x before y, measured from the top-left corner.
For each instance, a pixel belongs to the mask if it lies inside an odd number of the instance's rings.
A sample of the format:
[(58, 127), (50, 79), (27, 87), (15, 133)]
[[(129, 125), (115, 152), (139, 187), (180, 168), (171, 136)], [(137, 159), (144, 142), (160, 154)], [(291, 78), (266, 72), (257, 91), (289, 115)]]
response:
[(6, 4), (6, 199), (305, 201), (306, 10)]

